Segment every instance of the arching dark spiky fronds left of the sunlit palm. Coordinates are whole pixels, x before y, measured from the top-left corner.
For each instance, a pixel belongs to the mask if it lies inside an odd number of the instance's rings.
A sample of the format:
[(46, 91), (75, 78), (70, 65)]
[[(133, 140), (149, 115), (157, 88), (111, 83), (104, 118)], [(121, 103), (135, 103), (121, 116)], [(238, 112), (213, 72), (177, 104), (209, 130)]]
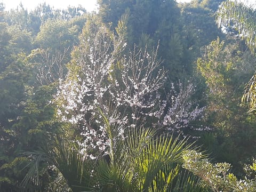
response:
[(27, 165), (30, 169), (23, 179), (22, 185), (26, 186), (27, 190), (31, 189), (32, 191), (35, 186), (39, 186), (41, 184), (39, 167), (42, 163), (47, 163), (47, 165), (58, 169), (73, 192), (90, 190), (91, 162), (85, 161), (74, 143), (70, 144), (59, 136), (55, 138), (52, 144), (53, 146), (45, 149), (23, 153), (23, 155), (30, 157), (31, 161)]

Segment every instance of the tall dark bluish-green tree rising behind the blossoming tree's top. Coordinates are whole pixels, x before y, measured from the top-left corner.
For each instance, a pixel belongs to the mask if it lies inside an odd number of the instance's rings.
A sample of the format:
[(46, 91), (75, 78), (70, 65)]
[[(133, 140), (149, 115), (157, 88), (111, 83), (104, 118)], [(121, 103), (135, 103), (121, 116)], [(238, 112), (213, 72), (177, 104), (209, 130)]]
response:
[(181, 33), (183, 26), (175, 1), (99, 1), (99, 5), (99, 16), (111, 29), (123, 14), (129, 15), (126, 26), (130, 49), (137, 44), (142, 49), (147, 45), (151, 50), (159, 42), (158, 56), (164, 60), (172, 81), (178, 82), (181, 76), (191, 73), (191, 62), (183, 57), (186, 55)]

